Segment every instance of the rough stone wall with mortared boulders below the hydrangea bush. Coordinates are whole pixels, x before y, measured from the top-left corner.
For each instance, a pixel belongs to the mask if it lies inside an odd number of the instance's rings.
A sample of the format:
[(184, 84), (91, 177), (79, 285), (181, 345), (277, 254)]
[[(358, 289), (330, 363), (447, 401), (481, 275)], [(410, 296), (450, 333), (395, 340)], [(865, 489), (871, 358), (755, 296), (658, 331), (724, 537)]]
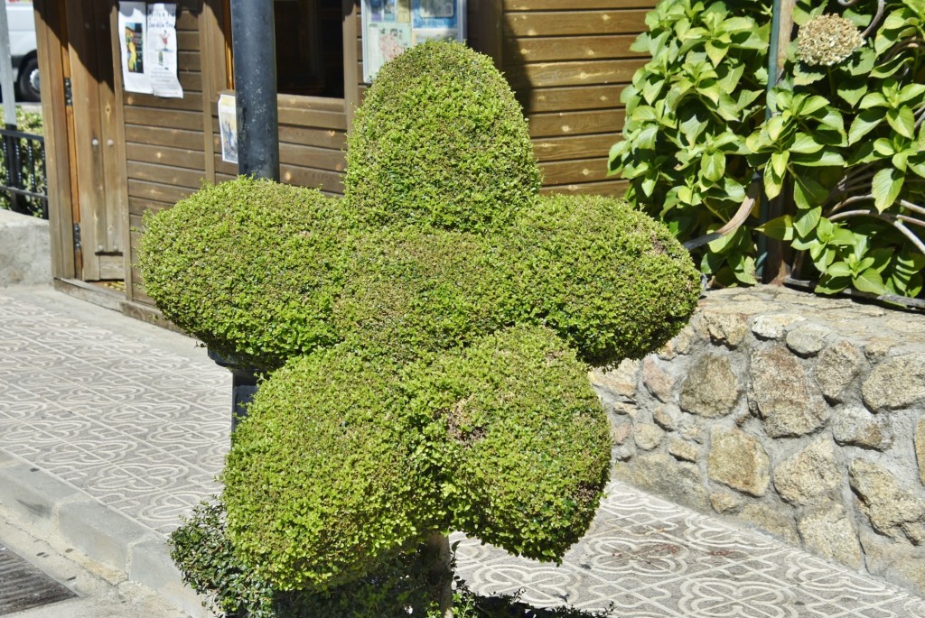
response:
[(591, 380), (615, 478), (925, 594), (925, 316), (715, 291)]

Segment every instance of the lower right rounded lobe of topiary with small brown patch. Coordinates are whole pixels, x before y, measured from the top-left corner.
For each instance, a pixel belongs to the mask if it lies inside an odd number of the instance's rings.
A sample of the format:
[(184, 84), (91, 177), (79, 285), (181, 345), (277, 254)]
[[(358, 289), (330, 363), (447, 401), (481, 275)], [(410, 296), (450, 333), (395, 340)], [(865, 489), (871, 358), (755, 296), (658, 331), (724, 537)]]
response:
[(514, 327), (442, 355), (414, 382), (438, 415), (453, 529), (545, 561), (585, 534), (610, 472), (607, 418), (587, 366), (552, 331)]

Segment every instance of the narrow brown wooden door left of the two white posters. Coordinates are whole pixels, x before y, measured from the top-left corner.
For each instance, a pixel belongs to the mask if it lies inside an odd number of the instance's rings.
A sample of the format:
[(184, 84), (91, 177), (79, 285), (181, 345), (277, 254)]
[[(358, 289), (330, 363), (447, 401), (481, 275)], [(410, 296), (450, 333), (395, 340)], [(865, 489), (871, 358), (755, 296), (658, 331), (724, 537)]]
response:
[(125, 278), (125, 207), (110, 18), (113, 0), (59, 0), (66, 20), (68, 142), (78, 279)]

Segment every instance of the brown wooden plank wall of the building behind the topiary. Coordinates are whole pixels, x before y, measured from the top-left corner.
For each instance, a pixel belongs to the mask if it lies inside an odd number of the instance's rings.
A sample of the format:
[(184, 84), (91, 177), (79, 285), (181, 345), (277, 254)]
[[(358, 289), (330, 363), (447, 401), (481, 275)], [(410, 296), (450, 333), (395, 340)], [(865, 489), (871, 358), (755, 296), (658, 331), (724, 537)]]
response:
[[(656, 0), (469, 0), (468, 43), (491, 55), (524, 106), (544, 191), (619, 195), (607, 154), (623, 127), (620, 93), (646, 58), (629, 50)], [(279, 96), (281, 180), (342, 191), (343, 149), (362, 101), (362, 22), (345, 0), (345, 99)], [(150, 305), (132, 265), (142, 214), (167, 208), (202, 186), (234, 177), (221, 159), (216, 103), (228, 88), (227, 3), (179, 3), (182, 99), (125, 92), (116, 75), (124, 129), (121, 170), (128, 204), (126, 297)], [(114, 16), (115, 18), (115, 16)], [(113, 29), (115, 30), (115, 28)], [(113, 38), (113, 52), (118, 42)], [(356, 84), (351, 88), (351, 84)]]

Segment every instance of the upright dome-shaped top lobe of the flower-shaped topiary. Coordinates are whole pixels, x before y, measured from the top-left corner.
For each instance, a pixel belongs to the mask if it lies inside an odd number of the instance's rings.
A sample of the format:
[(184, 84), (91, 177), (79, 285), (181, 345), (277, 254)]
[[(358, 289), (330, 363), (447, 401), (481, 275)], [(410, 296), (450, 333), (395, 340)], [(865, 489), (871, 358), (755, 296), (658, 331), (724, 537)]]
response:
[(348, 137), (344, 194), (362, 220), (480, 231), (538, 189), (524, 115), (487, 56), (425, 42), (382, 67)]

